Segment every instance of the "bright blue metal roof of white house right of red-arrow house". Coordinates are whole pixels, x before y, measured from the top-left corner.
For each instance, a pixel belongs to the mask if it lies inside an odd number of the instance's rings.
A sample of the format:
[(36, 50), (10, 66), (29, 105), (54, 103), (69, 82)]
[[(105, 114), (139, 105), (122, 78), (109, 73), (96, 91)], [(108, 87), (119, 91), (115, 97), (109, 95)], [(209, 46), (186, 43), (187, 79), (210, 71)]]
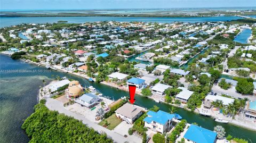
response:
[(159, 110), (158, 112), (149, 111), (147, 113), (147, 117), (143, 121), (151, 123), (151, 121), (155, 121), (159, 124), (165, 124), (168, 120), (172, 120), (174, 118), (173, 114), (164, 112)]

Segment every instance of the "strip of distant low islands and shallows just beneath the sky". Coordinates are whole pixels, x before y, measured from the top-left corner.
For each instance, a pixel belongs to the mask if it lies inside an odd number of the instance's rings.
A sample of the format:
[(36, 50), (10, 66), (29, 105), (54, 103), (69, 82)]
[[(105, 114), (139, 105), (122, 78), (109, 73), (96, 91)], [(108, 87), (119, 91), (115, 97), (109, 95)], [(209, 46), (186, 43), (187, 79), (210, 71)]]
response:
[[(70, 10), (71, 11), (71, 10)], [(1, 12), (2, 17), (71, 17), (71, 16), (116, 16), (116, 17), (206, 17), (206, 16), (234, 16), (234, 15), (256, 15), (256, 10), (219, 10), (219, 9), (197, 9), (197, 10), (81, 10), (76, 11), (38, 11), (33, 12)]]

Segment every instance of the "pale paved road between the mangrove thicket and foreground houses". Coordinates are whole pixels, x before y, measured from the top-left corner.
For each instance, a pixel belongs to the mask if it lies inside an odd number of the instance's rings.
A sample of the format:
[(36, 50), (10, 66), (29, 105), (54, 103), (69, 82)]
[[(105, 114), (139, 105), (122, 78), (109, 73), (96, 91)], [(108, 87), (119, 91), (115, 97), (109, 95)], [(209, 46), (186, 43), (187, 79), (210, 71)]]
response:
[(94, 130), (97, 130), (99, 133), (106, 132), (107, 135), (116, 142), (142, 142), (142, 140), (138, 137), (128, 136), (127, 138), (125, 138), (121, 136), (121, 134), (118, 134), (114, 131), (110, 131), (94, 122), (91, 122), (90, 120), (87, 120), (83, 115), (75, 114), (71, 111), (68, 111), (63, 107), (63, 104), (58, 100), (47, 98), (46, 107), (52, 111), (58, 111), (59, 113), (64, 113), (65, 115), (73, 116), (77, 120), (82, 120), (84, 124), (86, 124), (88, 127), (93, 128)]

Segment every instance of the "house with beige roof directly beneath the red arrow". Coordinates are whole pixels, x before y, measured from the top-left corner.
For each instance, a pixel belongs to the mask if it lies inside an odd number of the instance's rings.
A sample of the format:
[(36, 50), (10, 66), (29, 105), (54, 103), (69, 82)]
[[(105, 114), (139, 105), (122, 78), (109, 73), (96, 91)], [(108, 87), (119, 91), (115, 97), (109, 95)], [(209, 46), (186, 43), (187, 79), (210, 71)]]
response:
[(132, 105), (130, 103), (124, 104), (122, 107), (118, 108), (116, 116), (129, 124), (132, 124), (136, 119), (142, 115), (143, 108)]

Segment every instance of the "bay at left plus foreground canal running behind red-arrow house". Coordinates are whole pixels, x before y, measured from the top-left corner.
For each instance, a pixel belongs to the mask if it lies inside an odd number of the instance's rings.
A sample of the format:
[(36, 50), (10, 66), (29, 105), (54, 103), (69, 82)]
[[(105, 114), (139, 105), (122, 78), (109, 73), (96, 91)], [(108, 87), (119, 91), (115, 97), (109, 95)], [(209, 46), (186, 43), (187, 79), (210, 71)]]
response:
[[(78, 80), (83, 86), (94, 86), (102, 92), (103, 96), (108, 96), (114, 99), (119, 99), (123, 96), (128, 96), (128, 92), (118, 90), (113, 87), (102, 85), (100, 83), (89, 82), (84, 78), (77, 77), (71, 74), (58, 71), (51, 72), (31, 72), (28, 70), (45, 70), (43, 67), (38, 67), (33, 64), (23, 63), (21, 61), (12, 60), (9, 56), (0, 55), (0, 78), (1, 78), (1, 134), (0, 142), (28, 142), (29, 138), (25, 132), (21, 130), (23, 119), (26, 119), (33, 113), (33, 106), (37, 104), (37, 92), (39, 86), (43, 86), (42, 80), (47, 82), (52, 80), (52, 77), (59, 75), (60, 77), (68, 77)], [(3, 72), (3, 70), (25, 70), (18, 73)], [(156, 103), (149, 98), (135, 96), (135, 104), (142, 107), (150, 108), (157, 105), (161, 110), (169, 112), (170, 105), (164, 103)], [(222, 125), (227, 134), (234, 137), (244, 138), (250, 142), (256, 142), (256, 132), (244, 128), (236, 127), (231, 124), (221, 124), (214, 122), (210, 117), (204, 117), (182, 108), (177, 108), (177, 113), (186, 119), (189, 123), (197, 122), (198, 125), (213, 130), (215, 125)]]

